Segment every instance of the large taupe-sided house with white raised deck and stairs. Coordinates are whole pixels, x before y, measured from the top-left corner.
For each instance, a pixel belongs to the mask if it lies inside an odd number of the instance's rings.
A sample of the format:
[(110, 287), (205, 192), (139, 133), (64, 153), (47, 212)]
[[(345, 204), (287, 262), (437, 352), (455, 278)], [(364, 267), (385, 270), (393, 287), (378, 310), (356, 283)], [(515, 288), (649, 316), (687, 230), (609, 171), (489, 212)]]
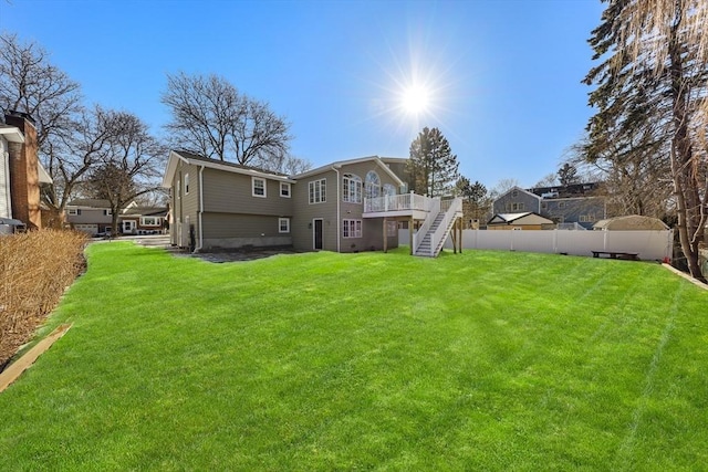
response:
[(437, 254), (461, 217), (461, 199), (402, 193), (407, 186), (392, 165), (402, 171), (405, 159), (385, 159), (339, 160), (285, 176), (173, 150), (163, 179), (170, 189), (171, 243), (192, 251), (386, 250), (397, 247), (398, 222), (407, 221), (424, 230), (413, 238), (414, 251)]

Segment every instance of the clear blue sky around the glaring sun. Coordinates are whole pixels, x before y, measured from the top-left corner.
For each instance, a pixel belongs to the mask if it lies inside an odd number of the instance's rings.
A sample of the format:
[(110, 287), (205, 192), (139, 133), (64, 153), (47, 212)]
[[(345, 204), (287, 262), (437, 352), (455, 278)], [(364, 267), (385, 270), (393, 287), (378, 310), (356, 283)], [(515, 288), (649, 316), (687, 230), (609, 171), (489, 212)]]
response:
[[(492, 188), (555, 172), (592, 109), (586, 42), (600, 0), (0, 0), (0, 30), (35, 41), (87, 104), (132, 112), (156, 134), (166, 75), (218, 74), (292, 124), (314, 166), (408, 157), (438, 127), (460, 172)], [(425, 87), (429, 106), (400, 107)]]

